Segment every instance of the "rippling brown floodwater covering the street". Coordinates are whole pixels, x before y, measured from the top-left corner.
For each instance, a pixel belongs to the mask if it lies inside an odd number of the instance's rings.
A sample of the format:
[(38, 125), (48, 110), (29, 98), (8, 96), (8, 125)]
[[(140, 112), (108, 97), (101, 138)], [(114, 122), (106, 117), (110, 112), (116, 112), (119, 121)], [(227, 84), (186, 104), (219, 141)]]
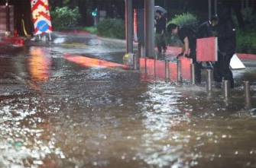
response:
[(63, 53), (120, 62), (125, 45), (74, 39), (2, 50), (0, 167), (256, 167), (255, 61), (234, 71), (225, 101), (218, 89), (76, 65)]

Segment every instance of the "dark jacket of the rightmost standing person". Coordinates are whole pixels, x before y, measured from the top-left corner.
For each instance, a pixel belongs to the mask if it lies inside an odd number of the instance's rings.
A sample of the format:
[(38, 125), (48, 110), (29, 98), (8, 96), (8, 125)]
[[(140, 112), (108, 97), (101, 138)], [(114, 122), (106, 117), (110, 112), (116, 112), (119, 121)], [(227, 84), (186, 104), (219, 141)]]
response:
[(228, 6), (222, 6), (218, 9), (218, 46), (220, 52), (228, 55), (235, 54), (235, 25), (231, 17), (231, 9)]

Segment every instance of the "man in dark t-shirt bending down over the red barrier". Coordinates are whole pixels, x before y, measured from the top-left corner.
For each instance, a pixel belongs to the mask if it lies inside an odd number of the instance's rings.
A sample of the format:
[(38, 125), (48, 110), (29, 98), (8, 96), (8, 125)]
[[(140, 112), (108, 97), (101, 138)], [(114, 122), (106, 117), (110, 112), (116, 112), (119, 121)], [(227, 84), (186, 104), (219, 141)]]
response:
[(173, 35), (178, 35), (182, 42), (182, 52), (177, 56), (185, 56), (193, 59), (193, 63), (196, 64), (196, 83), (201, 83), (201, 62), (196, 62), (196, 38), (197, 33), (195, 30), (189, 27), (178, 27), (176, 24), (169, 24), (167, 31)]

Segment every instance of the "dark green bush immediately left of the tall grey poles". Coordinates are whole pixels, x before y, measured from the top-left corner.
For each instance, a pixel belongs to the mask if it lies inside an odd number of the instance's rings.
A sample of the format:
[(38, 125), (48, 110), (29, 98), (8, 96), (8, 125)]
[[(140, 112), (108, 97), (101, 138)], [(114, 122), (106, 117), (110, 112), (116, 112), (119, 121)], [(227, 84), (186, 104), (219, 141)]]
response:
[(125, 21), (121, 19), (104, 19), (97, 24), (97, 34), (116, 39), (125, 39)]

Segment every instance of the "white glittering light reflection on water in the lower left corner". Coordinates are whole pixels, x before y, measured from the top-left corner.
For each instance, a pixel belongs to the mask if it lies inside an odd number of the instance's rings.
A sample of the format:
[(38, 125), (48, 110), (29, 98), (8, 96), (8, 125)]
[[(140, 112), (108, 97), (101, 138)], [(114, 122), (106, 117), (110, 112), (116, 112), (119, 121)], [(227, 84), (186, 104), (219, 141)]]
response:
[[(37, 97), (18, 97), (2, 101), (0, 109), (0, 167), (47, 166), (46, 156), (64, 158), (56, 147), (49, 122), (38, 116), (43, 109)], [(22, 108), (18, 108), (21, 107)], [(48, 112), (56, 107), (49, 106)], [(52, 123), (50, 123), (52, 124)]]

